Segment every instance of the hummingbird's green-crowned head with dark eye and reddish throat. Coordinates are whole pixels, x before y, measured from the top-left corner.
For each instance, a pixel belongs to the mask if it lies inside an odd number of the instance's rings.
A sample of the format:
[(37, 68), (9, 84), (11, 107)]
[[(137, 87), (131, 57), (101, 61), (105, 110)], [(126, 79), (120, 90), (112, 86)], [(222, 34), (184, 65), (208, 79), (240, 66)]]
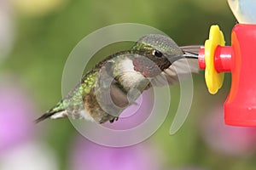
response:
[(142, 72), (144, 77), (159, 75), (184, 54), (170, 37), (160, 34), (141, 37), (131, 48), (131, 53), (137, 54), (133, 59), (134, 70)]

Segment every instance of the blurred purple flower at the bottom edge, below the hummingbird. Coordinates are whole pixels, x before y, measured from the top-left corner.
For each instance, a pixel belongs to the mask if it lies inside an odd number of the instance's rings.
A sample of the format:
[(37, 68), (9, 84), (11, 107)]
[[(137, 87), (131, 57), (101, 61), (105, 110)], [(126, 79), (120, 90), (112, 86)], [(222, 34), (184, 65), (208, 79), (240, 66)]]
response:
[[(102, 137), (104, 138), (104, 137)], [(71, 154), (73, 170), (156, 170), (160, 168), (160, 156), (145, 144), (125, 148), (108, 148), (79, 139)]]

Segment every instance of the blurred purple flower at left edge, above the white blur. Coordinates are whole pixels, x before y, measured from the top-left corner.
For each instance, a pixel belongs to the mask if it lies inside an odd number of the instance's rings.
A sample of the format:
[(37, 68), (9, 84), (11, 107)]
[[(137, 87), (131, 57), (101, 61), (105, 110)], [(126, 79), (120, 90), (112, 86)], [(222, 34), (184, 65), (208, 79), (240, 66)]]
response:
[(0, 153), (29, 139), (32, 134), (32, 101), (16, 84), (0, 80)]

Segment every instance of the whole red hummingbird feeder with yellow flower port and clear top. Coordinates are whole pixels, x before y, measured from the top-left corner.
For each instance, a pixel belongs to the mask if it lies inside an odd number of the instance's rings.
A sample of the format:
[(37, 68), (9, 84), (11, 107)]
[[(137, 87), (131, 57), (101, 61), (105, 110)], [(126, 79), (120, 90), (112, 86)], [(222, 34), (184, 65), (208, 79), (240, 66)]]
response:
[(222, 31), (218, 26), (211, 26), (198, 62), (205, 70), (210, 94), (221, 88), (224, 72), (231, 72), (230, 94), (224, 103), (225, 123), (256, 127), (256, 11), (253, 9), (256, 2), (230, 0), (229, 3), (239, 21), (231, 33), (231, 46), (224, 46)]

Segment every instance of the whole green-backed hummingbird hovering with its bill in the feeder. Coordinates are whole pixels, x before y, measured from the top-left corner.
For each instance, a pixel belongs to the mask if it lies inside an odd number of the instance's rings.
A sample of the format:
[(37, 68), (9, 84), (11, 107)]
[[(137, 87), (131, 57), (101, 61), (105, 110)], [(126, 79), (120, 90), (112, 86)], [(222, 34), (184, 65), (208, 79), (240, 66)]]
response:
[(47, 118), (67, 116), (104, 123), (117, 121), (129, 105), (137, 105), (136, 99), (152, 82), (162, 86), (178, 81), (173, 63), (180, 61), (180, 69), (189, 63), (183, 74), (197, 73), (200, 46), (179, 47), (170, 37), (160, 34), (145, 35), (129, 50), (112, 54), (87, 71), (73, 90), (35, 122)]

